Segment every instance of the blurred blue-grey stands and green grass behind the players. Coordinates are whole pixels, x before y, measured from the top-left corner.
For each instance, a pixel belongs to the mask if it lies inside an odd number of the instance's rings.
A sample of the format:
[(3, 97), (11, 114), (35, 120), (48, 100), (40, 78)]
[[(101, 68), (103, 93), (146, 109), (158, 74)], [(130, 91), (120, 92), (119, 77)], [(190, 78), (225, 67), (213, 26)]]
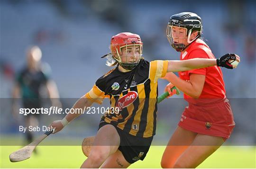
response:
[[(225, 143), (227, 146), (200, 167), (256, 168), (255, 9), (255, 0), (1, 0), (0, 167), (78, 168), (84, 160), (78, 145), (98, 129), (101, 115), (80, 116), (62, 132), (47, 138), (48, 146), (39, 147), (38, 157), (16, 164), (8, 161), (9, 153), (25, 144), (22, 133), (18, 132), (18, 126), (24, 124), (13, 119), (10, 105), (15, 74), (26, 64), (28, 46), (41, 48), (42, 61), (57, 84), (63, 107), (71, 107), (110, 70), (101, 56), (110, 52), (110, 38), (119, 32), (140, 35), (144, 42), (143, 55), (148, 61), (179, 60), (179, 53), (167, 41), (165, 29), (171, 15), (191, 11), (201, 16), (203, 38), (215, 57), (237, 53), (242, 60), (236, 70), (222, 69), (236, 127)], [(166, 84), (159, 80), (159, 94), (164, 92)], [(155, 146), (144, 163), (140, 161), (131, 167), (160, 167), (164, 147), (157, 146), (166, 145), (173, 133), (187, 105), (182, 97), (174, 96), (159, 104)], [(107, 100), (104, 105), (108, 106)], [(39, 123), (49, 125), (63, 116), (43, 115)], [(58, 144), (62, 146), (50, 146)], [(52, 150), (59, 153), (50, 155)], [(247, 160), (242, 161), (244, 157)], [(59, 164), (65, 160), (73, 161), (74, 165)]]

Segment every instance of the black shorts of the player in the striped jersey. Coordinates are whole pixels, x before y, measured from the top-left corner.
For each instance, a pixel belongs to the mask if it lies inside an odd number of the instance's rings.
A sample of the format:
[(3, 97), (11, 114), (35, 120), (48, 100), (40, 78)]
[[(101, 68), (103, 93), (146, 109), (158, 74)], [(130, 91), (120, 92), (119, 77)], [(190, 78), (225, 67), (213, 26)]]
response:
[[(99, 129), (104, 125), (112, 124), (101, 120)], [(125, 160), (127, 160), (130, 164), (136, 162), (137, 160), (144, 160), (153, 140), (153, 136), (147, 138), (138, 137), (119, 129), (117, 126), (114, 127), (116, 128), (120, 137), (120, 145), (118, 149), (122, 152)]]

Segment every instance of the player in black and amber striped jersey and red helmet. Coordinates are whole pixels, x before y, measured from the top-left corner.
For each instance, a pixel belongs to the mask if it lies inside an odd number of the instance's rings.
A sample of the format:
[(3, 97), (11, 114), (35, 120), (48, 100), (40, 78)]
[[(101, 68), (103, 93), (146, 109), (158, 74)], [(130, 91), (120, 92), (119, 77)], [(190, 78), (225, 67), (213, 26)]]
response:
[[(143, 160), (155, 135), (157, 80), (165, 77), (166, 72), (217, 64), (216, 59), (148, 62), (141, 57), (142, 46), (140, 36), (136, 34), (125, 32), (113, 36), (111, 53), (103, 57), (108, 58), (107, 65), (117, 65), (116, 68), (99, 78), (73, 106), (90, 107), (109, 98), (113, 107), (113, 111), (101, 117), (91, 152), (81, 168), (127, 168), (137, 160)], [(225, 59), (229, 60), (230, 56), (219, 58), (220, 61)], [(55, 127), (56, 133), (79, 115), (68, 114), (50, 126)]]

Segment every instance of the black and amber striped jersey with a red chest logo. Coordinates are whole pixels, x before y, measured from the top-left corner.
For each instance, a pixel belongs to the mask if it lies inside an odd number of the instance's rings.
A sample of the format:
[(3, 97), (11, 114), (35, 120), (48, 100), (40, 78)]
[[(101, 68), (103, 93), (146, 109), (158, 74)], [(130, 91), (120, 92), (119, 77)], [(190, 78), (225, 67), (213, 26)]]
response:
[(141, 59), (132, 71), (112, 69), (85, 96), (99, 104), (110, 98), (111, 107), (119, 111), (102, 116), (107, 123), (135, 136), (151, 137), (156, 127), (157, 80), (165, 76), (167, 67), (168, 61)]

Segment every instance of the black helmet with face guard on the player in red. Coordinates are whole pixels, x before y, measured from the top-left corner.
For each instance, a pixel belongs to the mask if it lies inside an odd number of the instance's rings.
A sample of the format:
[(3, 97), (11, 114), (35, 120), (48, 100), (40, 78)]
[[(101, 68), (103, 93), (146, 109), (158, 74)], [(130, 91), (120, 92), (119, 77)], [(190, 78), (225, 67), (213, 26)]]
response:
[[(167, 38), (169, 43), (173, 46), (173, 48), (178, 51), (182, 52), (187, 46), (184, 44), (175, 44), (173, 37), (172, 37), (172, 29), (171, 27), (183, 27), (187, 29), (186, 35), (188, 36), (188, 44), (191, 44), (194, 40), (201, 36), (202, 32), (202, 21), (201, 18), (192, 12), (182, 12), (179, 14), (175, 14), (170, 17), (170, 20), (167, 25)], [(190, 41), (190, 36), (193, 31), (198, 31), (198, 35), (192, 41)]]

